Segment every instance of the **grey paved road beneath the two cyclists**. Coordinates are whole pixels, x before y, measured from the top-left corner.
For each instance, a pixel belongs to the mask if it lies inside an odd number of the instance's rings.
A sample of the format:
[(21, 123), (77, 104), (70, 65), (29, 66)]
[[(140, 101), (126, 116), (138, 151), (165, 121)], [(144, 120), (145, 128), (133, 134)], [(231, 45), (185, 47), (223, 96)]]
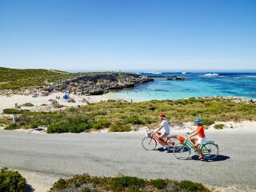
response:
[(142, 149), (142, 133), (25, 134), (0, 130), (0, 166), (44, 174), (126, 174), (171, 178), (211, 186), (256, 188), (256, 132), (206, 132), (218, 142), (216, 162), (177, 160), (166, 151)]

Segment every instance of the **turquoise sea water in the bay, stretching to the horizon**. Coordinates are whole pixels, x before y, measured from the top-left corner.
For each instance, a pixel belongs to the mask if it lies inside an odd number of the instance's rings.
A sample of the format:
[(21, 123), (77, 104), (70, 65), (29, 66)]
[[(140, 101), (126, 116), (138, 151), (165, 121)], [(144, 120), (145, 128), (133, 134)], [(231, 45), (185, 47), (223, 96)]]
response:
[(205, 76), (201, 73), (141, 73), (142, 75), (178, 75), (182, 81), (167, 81), (166, 78), (154, 78), (154, 82), (137, 85), (132, 89), (110, 92), (109, 98), (122, 98), (134, 102), (152, 99), (178, 99), (203, 96), (237, 96), (256, 98), (256, 73), (218, 72), (218, 76)]

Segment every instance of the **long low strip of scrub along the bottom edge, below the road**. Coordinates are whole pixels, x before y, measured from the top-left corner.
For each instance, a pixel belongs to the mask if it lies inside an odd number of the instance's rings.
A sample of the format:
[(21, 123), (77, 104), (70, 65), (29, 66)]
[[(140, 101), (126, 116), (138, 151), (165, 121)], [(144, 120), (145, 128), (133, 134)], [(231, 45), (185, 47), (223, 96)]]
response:
[(210, 192), (198, 182), (174, 181), (169, 179), (146, 180), (120, 175), (118, 177), (93, 177), (89, 174), (77, 174), (70, 179), (60, 179), (54, 183), (50, 192)]

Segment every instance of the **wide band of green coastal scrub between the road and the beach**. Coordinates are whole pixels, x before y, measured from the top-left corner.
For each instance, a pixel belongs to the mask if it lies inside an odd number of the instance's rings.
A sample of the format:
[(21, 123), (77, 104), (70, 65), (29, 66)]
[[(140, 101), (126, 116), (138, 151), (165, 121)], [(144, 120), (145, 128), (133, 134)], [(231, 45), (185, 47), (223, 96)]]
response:
[[(10, 112), (18, 113), (16, 110), (4, 110), (6, 114)], [(17, 114), (15, 125), (12, 125), (12, 118), (6, 117), (0, 119), (0, 123), (5, 124), (7, 129), (47, 126), (49, 134), (80, 133), (104, 128), (119, 132), (138, 130), (142, 126), (154, 127), (160, 113), (166, 114), (173, 125), (193, 122), (194, 118), (202, 118), (206, 127), (214, 122), (256, 120), (255, 104), (236, 103), (221, 98), (189, 98), (134, 103), (109, 100), (55, 112), (22, 111)], [(215, 128), (222, 129), (222, 126)]]

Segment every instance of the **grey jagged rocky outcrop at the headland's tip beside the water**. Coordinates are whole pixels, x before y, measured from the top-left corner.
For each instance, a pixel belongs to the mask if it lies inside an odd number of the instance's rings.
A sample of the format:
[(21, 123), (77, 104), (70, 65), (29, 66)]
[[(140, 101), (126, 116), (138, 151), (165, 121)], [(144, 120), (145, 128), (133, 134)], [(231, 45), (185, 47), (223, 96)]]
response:
[(70, 90), (77, 94), (98, 95), (108, 90), (120, 90), (134, 87), (136, 84), (152, 82), (154, 78), (130, 73), (110, 73), (82, 75), (66, 81), (45, 87), (47, 91)]

